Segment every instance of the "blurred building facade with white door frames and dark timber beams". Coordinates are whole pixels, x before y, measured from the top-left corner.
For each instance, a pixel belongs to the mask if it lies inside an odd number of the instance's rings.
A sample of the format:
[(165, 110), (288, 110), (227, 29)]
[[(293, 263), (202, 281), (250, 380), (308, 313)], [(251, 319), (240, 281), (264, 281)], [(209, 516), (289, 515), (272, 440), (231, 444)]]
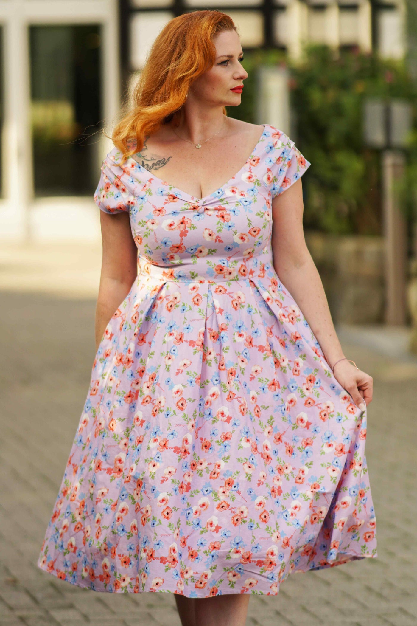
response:
[(233, 18), (244, 50), (406, 53), (404, 0), (0, 0), (0, 238), (99, 240), (100, 128), (164, 24), (205, 8)]

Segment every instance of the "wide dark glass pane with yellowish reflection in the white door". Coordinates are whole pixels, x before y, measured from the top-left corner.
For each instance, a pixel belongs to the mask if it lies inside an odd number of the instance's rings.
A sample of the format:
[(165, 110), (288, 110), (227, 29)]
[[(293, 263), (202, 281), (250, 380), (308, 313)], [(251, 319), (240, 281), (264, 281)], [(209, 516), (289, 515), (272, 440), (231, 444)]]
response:
[(31, 26), (29, 33), (35, 195), (90, 195), (102, 115), (100, 27)]

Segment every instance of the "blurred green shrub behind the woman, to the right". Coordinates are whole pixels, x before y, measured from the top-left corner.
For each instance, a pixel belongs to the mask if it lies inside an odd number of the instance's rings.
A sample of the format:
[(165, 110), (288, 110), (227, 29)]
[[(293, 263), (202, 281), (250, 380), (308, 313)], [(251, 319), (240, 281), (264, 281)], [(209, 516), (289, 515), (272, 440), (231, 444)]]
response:
[[(241, 106), (228, 108), (236, 118), (255, 122), (256, 68), (285, 64), (289, 73), (294, 141), (311, 162), (303, 179), (304, 227), (329, 233), (381, 234), (381, 155), (364, 145), (364, 98), (406, 98), (414, 106), (417, 88), (406, 61), (380, 59), (374, 53), (309, 45), (303, 60), (288, 61), (283, 51), (245, 53), (248, 71)], [(266, 120), (268, 121), (268, 120)], [(399, 185), (409, 214), (417, 198), (417, 130), (407, 151), (407, 169)]]

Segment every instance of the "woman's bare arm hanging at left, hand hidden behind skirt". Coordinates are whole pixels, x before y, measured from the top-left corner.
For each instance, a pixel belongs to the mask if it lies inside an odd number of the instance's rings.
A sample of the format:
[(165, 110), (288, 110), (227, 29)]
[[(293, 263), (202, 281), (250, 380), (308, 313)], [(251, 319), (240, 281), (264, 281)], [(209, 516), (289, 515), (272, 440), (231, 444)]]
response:
[(96, 351), (111, 317), (128, 295), (138, 274), (138, 249), (128, 213), (100, 211), (103, 259), (96, 304)]

